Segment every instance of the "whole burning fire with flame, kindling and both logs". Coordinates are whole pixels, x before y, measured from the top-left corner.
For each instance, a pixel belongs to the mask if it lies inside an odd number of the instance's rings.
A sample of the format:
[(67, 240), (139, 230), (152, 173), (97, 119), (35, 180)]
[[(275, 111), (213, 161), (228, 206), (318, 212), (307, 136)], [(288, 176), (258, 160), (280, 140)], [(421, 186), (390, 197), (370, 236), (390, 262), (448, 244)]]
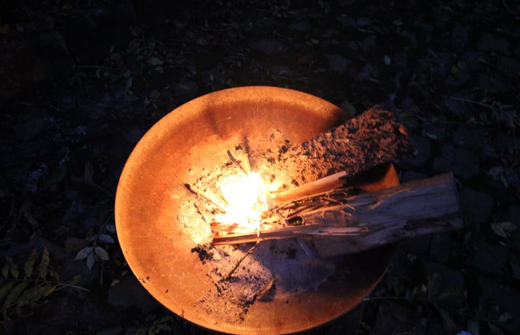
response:
[(279, 148), (278, 159), (256, 171), (247, 151), (236, 150), (238, 159), (227, 151), (228, 173), (214, 186), (187, 187), (214, 205), (205, 217), (213, 245), (304, 238), (320, 256), (335, 256), (462, 227), (451, 173), (375, 192), (363, 186), (363, 174), (385, 169), (411, 147), (394, 113), (372, 108)]

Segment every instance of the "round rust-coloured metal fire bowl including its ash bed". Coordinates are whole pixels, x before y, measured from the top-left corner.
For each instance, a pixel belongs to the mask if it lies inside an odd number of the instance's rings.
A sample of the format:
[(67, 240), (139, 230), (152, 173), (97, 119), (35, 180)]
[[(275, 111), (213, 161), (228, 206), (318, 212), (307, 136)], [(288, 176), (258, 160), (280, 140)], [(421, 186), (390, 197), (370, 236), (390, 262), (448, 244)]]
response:
[[(334, 258), (315, 256), (296, 238), (212, 247), (201, 208), (218, 203), (201, 185), (220, 183), (235, 158), (262, 170), (258, 153), (272, 162), (285, 145), (346, 119), (313, 95), (265, 86), (213, 92), (164, 116), (137, 143), (115, 197), (117, 237), (139, 282), (184, 319), (234, 334), (299, 332), (357, 305), (381, 279), (392, 247)], [(271, 184), (283, 179), (267, 172)], [(390, 165), (367, 184), (398, 180)]]

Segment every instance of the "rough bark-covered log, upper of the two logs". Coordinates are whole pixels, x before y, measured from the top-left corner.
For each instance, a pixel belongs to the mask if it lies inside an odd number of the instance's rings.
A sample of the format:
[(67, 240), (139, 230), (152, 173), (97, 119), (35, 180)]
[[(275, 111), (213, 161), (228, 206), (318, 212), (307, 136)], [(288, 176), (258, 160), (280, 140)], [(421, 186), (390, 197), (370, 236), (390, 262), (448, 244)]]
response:
[(289, 170), (297, 184), (345, 171), (355, 175), (411, 152), (411, 138), (394, 112), (375, 106), (280, 155), (277, 165)]

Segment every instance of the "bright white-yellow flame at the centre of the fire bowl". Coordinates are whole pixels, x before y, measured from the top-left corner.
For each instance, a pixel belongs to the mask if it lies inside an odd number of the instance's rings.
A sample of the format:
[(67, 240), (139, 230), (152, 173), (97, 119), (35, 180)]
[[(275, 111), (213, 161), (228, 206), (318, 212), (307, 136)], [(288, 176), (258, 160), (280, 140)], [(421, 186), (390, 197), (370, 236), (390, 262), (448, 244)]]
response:
[(219, 186), (226, 201), (225, 213), (215, 219), (221, 223), (236, 223), (241, 227), (260, 227), (260, 216), (267, 210), (265, 186), (259, 173), (230, 175)]

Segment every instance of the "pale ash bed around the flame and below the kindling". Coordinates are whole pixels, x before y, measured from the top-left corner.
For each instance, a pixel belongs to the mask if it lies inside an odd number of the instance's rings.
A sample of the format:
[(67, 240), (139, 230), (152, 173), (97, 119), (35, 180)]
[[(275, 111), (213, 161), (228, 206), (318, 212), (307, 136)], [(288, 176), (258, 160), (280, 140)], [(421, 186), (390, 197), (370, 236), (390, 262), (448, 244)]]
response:
[[(239, 162), (247, 155), (251, 169), (261, 173), (271, 190), (273, 186), (292, 187), (294, 176), (291, 171), (296, 169), (288, 169), (286, 164), (283, 169), (277, 166), (280, 156), (291, 145), (289, 141), (283, 139), (282, 132), (275, 130), (262, 145), (264, 147), (247, 151), (237, 145), (230, 151)], [(254, 243), (211, 246), (210, 223), (221, 212), (215, 204), (220, 201), (218, 184), (234, 173), (240, 173), (239, 169), (229, 161), (215, 166), (212, 171), (193, 167), (188, 173), (189, 180), (185, 181), (193, 191), (192, 197), (183, 202), (178, 216), (185, 232), (194, 241), (194, 247), (203, 246), (204, 252), (209, 255), (207, 258), (201, 257), (201, 261), (210, 265), (208, 276), (215, 288), (201, 298), (197, 307), (214, 317), (232, 322), (243, 320), (249, 306), (256, 300), (286, 299), (295, 293), (317, 290), (336, 271), (335, 262), (308, 255), (294, 239), (264, 241), (247, 256), (245, 253)], [(238, 262), (240, 264), (236, 267)], [(212, 301), (216, 299), (225, 301), (227, 308), (212, 310), (211, 306), (215, 306)]]

